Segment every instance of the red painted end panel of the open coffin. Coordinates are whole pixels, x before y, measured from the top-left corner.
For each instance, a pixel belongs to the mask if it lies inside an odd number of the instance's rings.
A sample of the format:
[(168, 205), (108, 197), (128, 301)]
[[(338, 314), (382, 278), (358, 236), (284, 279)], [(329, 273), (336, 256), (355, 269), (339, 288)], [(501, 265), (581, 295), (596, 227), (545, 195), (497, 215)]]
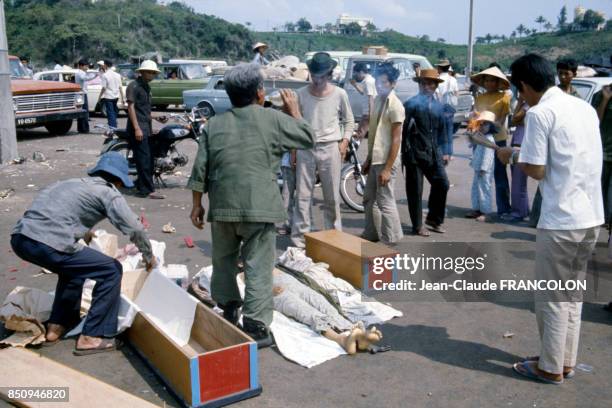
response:
[(226, 397), (251, 386), (249, 345), (205, 353), (199, 357), (202, 403)]

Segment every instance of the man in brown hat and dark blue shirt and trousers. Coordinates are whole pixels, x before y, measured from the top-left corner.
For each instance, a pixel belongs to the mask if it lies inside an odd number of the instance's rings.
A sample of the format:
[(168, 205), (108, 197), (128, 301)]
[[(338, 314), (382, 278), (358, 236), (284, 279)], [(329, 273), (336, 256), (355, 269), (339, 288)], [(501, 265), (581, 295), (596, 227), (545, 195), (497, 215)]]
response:
[(444, 233), (444, 212), (449, 189), (444, 166), (450, 160), (449, 132), (446, 130), (444, 107), (435, 100), (438, 84), (443, 82), (435, 69), (423, 69), (414, 80), (420, 93), (405, 104), (406, 119), (402, 130), (402, 162), (406, 169), (406, 198), (412, 220), (412, 232), (423, 237), (429, 232), (423, 227), (423, 176), (431, 184), (429, 213), (425, 224), (434, 232)]

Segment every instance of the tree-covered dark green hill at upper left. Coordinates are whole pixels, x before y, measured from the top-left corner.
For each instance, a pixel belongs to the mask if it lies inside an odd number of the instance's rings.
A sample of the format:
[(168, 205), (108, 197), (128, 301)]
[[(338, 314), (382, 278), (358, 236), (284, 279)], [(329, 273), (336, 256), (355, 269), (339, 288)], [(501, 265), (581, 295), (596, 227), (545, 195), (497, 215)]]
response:
[(168, 58), (250, 58), (252, 34), (240, 24), (196, 14), (175, 1), (55, 0), (6, 3), (10, 52), (35, 65), (80, 58), (115, 61), (148, 51)]

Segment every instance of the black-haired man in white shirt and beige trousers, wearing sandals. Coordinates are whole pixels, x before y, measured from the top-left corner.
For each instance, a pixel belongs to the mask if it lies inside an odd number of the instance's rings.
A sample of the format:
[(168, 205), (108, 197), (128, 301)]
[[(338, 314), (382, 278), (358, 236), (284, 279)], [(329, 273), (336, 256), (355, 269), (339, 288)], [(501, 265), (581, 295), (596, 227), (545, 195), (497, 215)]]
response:
[[(604, 222), (602, 146), (597, 113), (555, 86), (555, 71), (537, 54), (511, 66), (512, 84), (531, 106), (520, 149), (498, 150), (503, 163), (518, 163), (539, 180), (542, 215), (536, 235), (537, 280), (586, 279), (587, 262)], [(516, 363), (526, 377), (561, 384), (573, 375), (580, 336), (582, 293), (538, 292), (535, 313), (541, 339), (538, 357)]]

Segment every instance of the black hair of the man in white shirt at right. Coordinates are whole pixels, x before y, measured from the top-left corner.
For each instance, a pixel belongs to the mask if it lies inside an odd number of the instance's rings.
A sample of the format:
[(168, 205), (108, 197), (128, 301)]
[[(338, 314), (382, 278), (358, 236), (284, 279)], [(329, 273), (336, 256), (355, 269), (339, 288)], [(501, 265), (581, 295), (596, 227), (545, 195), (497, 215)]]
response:
[(519, 92), (523, 90), (521, 82), (531, 86), (536, 92), (544, 92), (555, 86), (555, 71), (546, 58), (538, 54), (523, 55), (510, 66), (510, 81)]

